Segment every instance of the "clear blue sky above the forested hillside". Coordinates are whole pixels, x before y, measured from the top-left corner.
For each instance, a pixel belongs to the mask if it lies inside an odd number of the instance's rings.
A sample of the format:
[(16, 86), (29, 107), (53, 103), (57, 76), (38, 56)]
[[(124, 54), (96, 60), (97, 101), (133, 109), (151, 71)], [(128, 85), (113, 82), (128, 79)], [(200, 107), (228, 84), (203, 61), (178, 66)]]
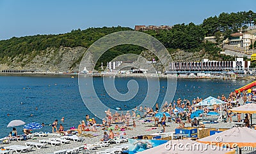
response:
[(221, 12), (255, 8), (255, 0), (0, 0), (0, 40), (88, 27), (201, 24)]

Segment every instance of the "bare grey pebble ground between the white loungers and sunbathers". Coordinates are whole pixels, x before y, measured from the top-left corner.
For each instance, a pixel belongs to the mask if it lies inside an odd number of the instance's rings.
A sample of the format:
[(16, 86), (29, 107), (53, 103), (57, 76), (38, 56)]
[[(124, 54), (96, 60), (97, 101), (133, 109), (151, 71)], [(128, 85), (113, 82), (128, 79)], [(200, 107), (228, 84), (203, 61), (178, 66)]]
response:
[[(234, 117), (234, 119), (235, 118), (236, 117)], [(228, 122), (228, 123), (219, 122), (219, 123), (213, 123), (213, 124), (205, 123), (204, 125), (205, 125), (205, 127), (209, 127), (209, 128), (230, 129), (235, 126), (235, 123), (234, 122)], [(185, 126), (190, 127), (191, 123), (186, 123)], [(112, 127), (113, 127), (113, 125), (112, 125)], [(173, 131), (175, 131), (176, 127), (179, 127), (179, 123), (166, 122), (166, 132), (173, 132)], [(132, 137), (136, 137), (136, 136), (150, 135), (150, 134), (154, 134), (154, 133), (159, 133), (163, 130), (163, 127), (155, 127), (154, 122), (143, 122), (143, 120), (137, 120), (136, 127), (131, 127), (131, 128), (132, 128), (132, 130), (125, 130), (126, 135), (124, 137), (132, 138)], [(152, 128), (156, 128), (156, 129), (152, 129)], [(37, 153), (38, 154), (39, 153), (53, 153), (54, 151), (68, 150), (68, 149), (76, 148), (79, 146), (83, 146), (84, 144), (97, 143), (100, 141), (100, 139), (103, 136), (103, 132), (105, 131), (105, 130), (101, 130), (100, 127), (98, 127), (97, 129), (99, 130), (99, 132), (83, 131), (83, 134), (94, 134), (94, 135), (97, 134), (99, 136), (83, 137), (84, 141), (80, 141), (80, 142), (70, 141), (69, 144), (61, 144), (60, 146), (51, 146), (51, 144), (47, 144), (46, 148), (41, 148), (39, 150), (36, 148), (33, 148), (32, 151), (30, 151), (28, 153), (35, 153), (35, 154), (37, 154)], [(106, 130), (106, 131), (109, 133), (108, 130)], [(113, 132), (114, 132), (114, 134), (116, 134), (118, 132), (120, 133), (120, 131), (115, 131), (115, 130)], [(53, 134), (53, 135), (49, 134), (47, 137), (32, 137), (31, 139), (28, 139), (27, 141), (11, 141), (11, 143), (1, 144), (1, 146), (4, 147), (4, 146), (10, 146), (10, 145), (14, 145), (14, 144), (19, 144), (19, 145), (25, 146), (24, 143), (29, 142), (29, 141), (39, 142), (39, 140), (41, 140), (41, 139), (49, 139), (50, 137), (60, 137), (60, 136), (57, 136), (56, 134)], [(128, 144), (128, 143), (121, 143), (121, 144)], [(92, 153), (96, 153), (97, 151), (103, 151), (107, 148), (113, 148), (114, 146), (118, 146), (118, 144), (110, 144), (109, 147), (106, 147), (106, 148), (97, 148), (97, 150), (93, 150)]]

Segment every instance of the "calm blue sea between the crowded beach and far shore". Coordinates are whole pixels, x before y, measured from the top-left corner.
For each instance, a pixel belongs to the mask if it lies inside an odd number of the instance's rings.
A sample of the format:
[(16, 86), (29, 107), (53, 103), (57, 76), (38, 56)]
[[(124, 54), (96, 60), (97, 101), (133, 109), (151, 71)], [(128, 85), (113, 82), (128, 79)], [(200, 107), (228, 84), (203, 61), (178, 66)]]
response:
[[(132, 109), (138, 106), (138, 102), (143, 101), (147, 94), (147, 80), (145, 78), (115, 78), (116, 89), (120, 93), (127, 92), (127, 82), (136, 80), (139, 85), (138, 94), (127, 102), (118, 102), (104, 90), (102, 78), (93, 78), (93, 85), (100, 100), (113, 109), (120, 107), (123, 109)], [(157, 81), (157, 80), (156, 80)], [(228, 95), (232, 90), (242, 87), (250, 81), (240, 80), (177, 80), (177, 90), (174, 99), (194, 99), (198, 97), (208, 97), (212, 95)], [(12, 120), (23, 120), (26, 123), (44, 122), (45, 126), (41, 130), (51, 132), (49, 126), (55, 119), (59, 122), (65, 117), (63, 126), (77, 127), (79, 121), (85, 120), (85, 115), (94, 117), (86, 108), (81, 99), (78, 87), (77, 77), (70, 76), (0, 76), (0, 137), (8, 136), (12, 128), (6, 126)], [(160, 80), (160, 94), (157, 102), (161, 104), (166, 89), (166, 80)], [(88, 94), (90, 97), (90, 94)], [(22, 102), (22, 104), (21, 104)], [(126, 106), (126, 108), (125, 108)], [(36, 110), (36, 108), (38, 108)], [(104, 113), (104, 111), (102, 111)], [(7, 116), (10, 114), (10, 116)], [(30, 116), (33, 114), (33, 116)], [(99, 119), (97, 119), (99, 120)], [(18, 134), (22, 134), (22, 126), (17, 127)]]

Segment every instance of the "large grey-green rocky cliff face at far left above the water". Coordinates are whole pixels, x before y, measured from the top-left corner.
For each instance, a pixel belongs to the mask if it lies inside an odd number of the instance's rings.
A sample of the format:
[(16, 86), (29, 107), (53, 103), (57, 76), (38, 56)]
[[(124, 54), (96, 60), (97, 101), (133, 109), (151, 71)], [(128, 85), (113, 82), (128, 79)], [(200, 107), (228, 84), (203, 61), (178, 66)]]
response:
[(24, 69), (49, 72), (78, 71), (81, 57), (86, 48), (60, 47), (48, 48), (47, 50), (31, 52), (29, 55), (18, 56), (14, 59), (4, 59), (0, 64), (0, 70)]

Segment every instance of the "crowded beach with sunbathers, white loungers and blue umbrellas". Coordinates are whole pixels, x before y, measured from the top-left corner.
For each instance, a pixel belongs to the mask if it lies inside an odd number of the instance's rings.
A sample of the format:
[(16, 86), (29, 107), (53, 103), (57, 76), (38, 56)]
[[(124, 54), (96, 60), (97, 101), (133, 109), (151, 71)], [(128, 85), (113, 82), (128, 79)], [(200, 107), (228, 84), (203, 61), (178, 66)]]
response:
[[(164, 102), (162, 106), (156, 103), (154, 108), (138, 106), (131, 111), (115, 113), (111, 113), (109, 109), (100, 122), (85, 115), (77, 127), (68, 129), (59, 120), (54, 120), (49, 126), (49, 132), (40, 132), (40, 128), (45, 127), (44, 123), (33, 126), (34, 123), (30, 127), (20, 123), (24, 125), (23, 132), (17, 132), (13, 125), (10, 127), (10, 134), (0, 139), (1, 153), (128, 153), (128, 139), (154, 139), (154, 136), (161, 134), (164, 134), (163, 139), (200, 139), (198, 136), (177, 134), (177, 129), (231, 129), (239, 126), (254, 129), (252, 114), (232, 112), (232, 109), (253, 104), (255, 92), (256, 89), (248, 89), (230, 92), (227, 96), (212, 97), (214, 101), (223, 103), (209, 106), (200, 105), (204, 99), (196, 97), (190, 101), (179, 98), (173, 102)], [(201, 112), (196, 115), (197, 111)], [(60, 119), (61, 122), (64, 120), (64, 117)]]

